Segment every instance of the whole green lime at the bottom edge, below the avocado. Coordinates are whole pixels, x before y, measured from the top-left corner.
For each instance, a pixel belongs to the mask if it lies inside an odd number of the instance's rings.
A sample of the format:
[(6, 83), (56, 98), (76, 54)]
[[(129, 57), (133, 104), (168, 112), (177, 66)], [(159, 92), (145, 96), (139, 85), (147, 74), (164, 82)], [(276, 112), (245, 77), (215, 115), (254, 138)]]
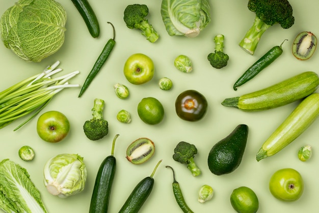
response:
[(256, 194), (246, 186), (233, 190), (230, 195), (230, 203), (238, 213), (255, 213), (259, 207)]

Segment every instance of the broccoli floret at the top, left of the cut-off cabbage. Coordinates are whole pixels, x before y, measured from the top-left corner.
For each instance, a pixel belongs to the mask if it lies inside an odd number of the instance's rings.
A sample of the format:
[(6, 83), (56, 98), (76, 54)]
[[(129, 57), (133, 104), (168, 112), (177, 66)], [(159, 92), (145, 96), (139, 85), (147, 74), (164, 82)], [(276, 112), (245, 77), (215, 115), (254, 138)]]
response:
[(150, 42), (155, 42), (159, 35), (149, 24), (146, 18), (148, 7), (146, 5), (128, 5), (124, 10), (124, 21), (129, 29), (140, 29), (142, 35)]

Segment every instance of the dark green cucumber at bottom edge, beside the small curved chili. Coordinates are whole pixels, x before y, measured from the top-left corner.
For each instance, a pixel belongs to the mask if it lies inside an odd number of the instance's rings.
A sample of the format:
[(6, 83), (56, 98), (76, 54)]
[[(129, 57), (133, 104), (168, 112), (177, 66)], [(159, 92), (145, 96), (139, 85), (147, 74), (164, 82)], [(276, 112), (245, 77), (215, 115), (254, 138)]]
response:
[(153, 176), (159, 163), (161, 162), (162, 160), (158, 161), (152, 174), (149, 177), (144, 178), (135, 186), (134, 190), (128, 196), (119, 213), (137, 213), (140, 210), (140, 208), (152, 192), (154, 185)]

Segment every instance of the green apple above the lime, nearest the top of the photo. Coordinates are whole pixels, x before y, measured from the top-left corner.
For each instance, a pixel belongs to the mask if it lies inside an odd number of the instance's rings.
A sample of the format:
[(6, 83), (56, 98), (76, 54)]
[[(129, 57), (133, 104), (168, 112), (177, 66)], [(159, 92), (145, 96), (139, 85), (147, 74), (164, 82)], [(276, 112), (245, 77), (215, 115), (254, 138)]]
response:
[(142, 53), (131, 55), (124, 64), (124, 76), (132, 84), (144, 84), (150, 81), (153, 75), (154, 63)]

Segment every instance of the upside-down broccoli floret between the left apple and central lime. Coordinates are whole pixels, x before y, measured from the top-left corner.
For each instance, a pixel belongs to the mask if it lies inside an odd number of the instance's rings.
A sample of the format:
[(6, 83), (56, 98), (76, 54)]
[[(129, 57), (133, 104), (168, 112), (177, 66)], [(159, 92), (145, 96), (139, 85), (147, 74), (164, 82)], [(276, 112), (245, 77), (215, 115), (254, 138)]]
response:
[(109, 133), (109, 124), (103, 119), (104, 101), (94, 99), (92, 108), (92, 119), (86, 121), (83, 125), (85, 135), (90, 140), (98, 140)]

